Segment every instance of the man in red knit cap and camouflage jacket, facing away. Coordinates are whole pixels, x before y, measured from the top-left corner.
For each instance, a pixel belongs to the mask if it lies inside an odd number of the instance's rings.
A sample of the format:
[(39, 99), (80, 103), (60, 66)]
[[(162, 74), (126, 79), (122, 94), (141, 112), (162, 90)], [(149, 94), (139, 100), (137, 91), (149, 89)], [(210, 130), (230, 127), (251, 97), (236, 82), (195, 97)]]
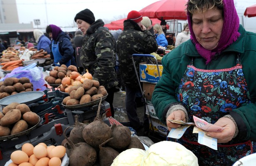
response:
[[(124, 31), (119, 35), (116, 42), (116, 51), (119, 58), (119, 68), (126, 90), (126, 111), (131, 127), (135, 130), (142, 127), (137, 117), (136, 93), (140, 92), (132, 54), (150, 54), (157, 51), (157, 41), (154, 36), (141, 24), (142, 15), (137, 11), (129, 12), (127, 20), (124, 21)], [(139, 63), (145, 58), (134, 57), (137, 72)]]

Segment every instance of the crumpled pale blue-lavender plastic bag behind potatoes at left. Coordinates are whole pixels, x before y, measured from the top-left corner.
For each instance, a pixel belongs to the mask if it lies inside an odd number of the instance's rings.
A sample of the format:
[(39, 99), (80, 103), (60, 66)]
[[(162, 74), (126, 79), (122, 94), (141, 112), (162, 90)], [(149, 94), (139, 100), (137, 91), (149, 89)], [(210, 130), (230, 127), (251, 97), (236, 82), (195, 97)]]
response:
[(33, 84), (33, 90), (36, 91), (40, 89), (40, 91), (46, 90), (46, 87), (43, 86), (45, 84), (45, 80), (43, 78), (43, 68), (37, 67), (36, 63), (31, 63), (25, 67), (15, 68), (11, 73), (6, 74), (4, 78), (0, 81), (4, 81), (5, 78), (15, 77), (22, 78), (26, 77), (30, 79), (30, 83)]

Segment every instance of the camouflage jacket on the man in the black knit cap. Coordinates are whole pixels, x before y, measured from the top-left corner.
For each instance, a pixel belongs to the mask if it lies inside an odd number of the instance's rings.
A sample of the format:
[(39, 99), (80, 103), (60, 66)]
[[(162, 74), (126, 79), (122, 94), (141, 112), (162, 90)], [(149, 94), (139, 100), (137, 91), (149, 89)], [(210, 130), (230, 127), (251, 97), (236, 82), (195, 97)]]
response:
[(109, 89), (118, 84), (114, 70), (114, 38), (103, 25), (104, 22), (99, 19), (89, 27), (83, 40), (80, 59), (93, 79)]

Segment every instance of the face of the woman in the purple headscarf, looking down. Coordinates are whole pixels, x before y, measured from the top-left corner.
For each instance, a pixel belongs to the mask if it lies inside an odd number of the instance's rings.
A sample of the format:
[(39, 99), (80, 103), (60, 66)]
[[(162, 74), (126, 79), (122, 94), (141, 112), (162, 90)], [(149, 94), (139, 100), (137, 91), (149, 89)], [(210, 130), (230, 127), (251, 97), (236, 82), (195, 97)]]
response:
[(192, 28), (196, 40), (205, 49), (215, 49), (221, 37), (223, 27), (222, 10), (209, 9), (204, 13), (192, 15)]

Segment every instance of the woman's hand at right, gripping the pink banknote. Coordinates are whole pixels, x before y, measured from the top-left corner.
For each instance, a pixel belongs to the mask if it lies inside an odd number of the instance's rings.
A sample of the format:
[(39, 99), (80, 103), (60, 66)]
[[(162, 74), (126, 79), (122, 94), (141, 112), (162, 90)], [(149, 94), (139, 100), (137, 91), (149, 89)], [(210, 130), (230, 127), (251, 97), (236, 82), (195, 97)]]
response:
[(236, 132), (236, 125), (231, 119), (221, 117), (214, 125), (224, 127), (225, 129), (221, 132), (207, 132), (209, 137), (217, 138), (218, 143), (226, 143), (231, 141)]

